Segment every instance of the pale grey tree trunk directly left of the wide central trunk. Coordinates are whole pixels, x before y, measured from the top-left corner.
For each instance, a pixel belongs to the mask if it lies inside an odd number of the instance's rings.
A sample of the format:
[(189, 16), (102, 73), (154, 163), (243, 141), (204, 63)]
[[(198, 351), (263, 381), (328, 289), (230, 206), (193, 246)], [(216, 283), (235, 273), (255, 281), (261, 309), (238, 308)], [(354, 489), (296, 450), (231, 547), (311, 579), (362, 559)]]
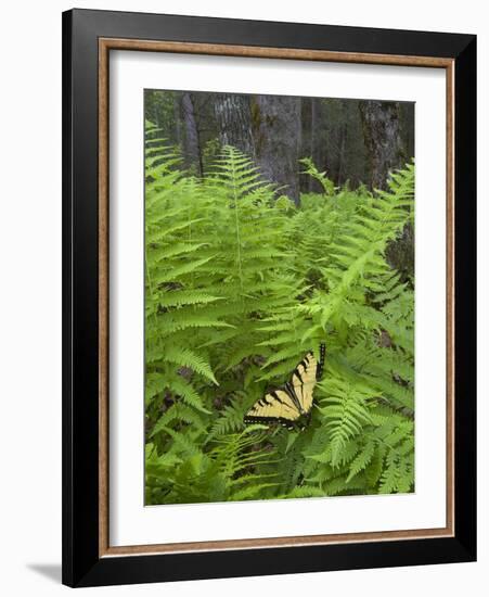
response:
[(214, 101), (214, 113), (221, 144), (232, 145), (255, 157), (249, 97), (219, 93)]

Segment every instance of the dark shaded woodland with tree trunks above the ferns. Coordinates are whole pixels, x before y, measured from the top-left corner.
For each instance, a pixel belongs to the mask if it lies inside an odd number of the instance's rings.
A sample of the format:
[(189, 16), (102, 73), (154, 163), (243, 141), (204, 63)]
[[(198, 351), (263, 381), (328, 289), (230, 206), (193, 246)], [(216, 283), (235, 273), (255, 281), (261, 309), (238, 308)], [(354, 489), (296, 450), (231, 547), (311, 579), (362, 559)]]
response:
[(179, 145), (185, 166), (207, 174), (233, 145), (283, 186), (296, 204), (320, 185), (300, 174), (312, 158), (335, 186), (385, 189), (387, 175), (414, 156), (414, 104), (368, 100), (146, 90), (145, 118)]

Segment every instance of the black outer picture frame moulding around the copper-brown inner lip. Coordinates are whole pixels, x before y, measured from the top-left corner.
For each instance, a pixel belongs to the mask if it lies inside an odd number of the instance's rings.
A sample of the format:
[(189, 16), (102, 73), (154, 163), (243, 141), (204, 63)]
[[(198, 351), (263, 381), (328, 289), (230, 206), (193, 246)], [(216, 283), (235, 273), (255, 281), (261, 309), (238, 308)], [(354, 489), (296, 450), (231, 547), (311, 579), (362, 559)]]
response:
[[(203, 552), (100, 555), (99, 39), (374, 55), (454, 65), (454, 534)], [(361, 62), (361, 61), (360, 61)], [(63, 14), (63, 583), (125, 583), (476, 559), (476, 36), (110, 11)]]

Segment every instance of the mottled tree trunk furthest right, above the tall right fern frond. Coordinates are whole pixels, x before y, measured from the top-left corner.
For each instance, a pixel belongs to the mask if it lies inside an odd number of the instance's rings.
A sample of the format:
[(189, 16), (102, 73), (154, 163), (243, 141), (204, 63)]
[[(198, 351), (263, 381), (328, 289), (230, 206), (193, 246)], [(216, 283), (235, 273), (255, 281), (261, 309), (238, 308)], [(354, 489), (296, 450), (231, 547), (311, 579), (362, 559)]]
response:
[(401, 167), (406, 148), (401, 142), (400, 112), (396, 102), (359, 102), (363, 138), (371, 162), (373, 189), (386, 189), (388, 174)]

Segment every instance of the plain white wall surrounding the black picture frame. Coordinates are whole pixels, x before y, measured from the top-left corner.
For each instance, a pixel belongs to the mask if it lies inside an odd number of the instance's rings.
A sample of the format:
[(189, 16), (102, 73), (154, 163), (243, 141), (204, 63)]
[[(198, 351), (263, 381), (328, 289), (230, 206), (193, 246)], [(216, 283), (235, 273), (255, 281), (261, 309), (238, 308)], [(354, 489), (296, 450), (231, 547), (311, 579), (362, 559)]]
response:
[[(478, 0), (136, 0), (78, 8), (133, 10), (472, 33), (479, 36), (479, 561), (90, 589), (91, 595), (215, 597), (268, 592), (396, 597), (480, 595), (489, 574), (488, 115), (489, 20)], [(61, 12), (73, 4), (2, 5), (0, 92), (0, 575), (1, 592), (57, 595), (61, 579)], [(485, 110), (482, 110), (482, 107)], [(486, 201), (485, 201), (486, 200)], [(484, 226), (484, 228), (482, 228)], [(482, 233), (484, 232), (484, 233)], [(487, 590), (487, 589), (486, 589)]]

